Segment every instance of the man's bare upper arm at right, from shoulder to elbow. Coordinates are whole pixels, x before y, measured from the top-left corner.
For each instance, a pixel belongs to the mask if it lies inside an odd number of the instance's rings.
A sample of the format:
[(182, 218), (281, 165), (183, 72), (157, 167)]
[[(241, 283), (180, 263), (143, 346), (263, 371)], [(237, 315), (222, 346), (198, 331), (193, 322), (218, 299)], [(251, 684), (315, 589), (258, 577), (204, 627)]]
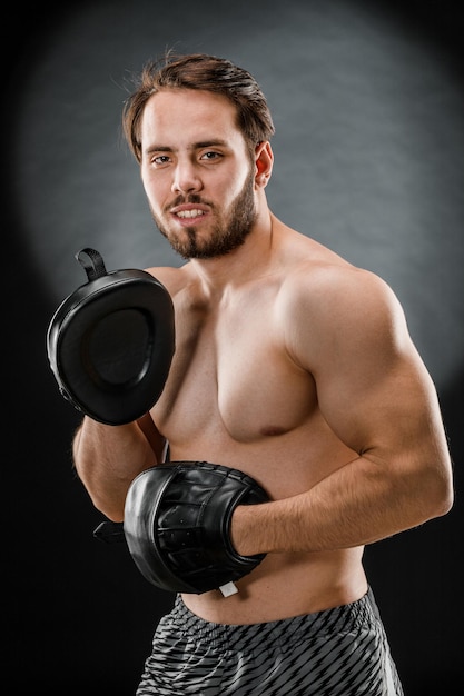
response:
[(307, 369), (329, 427), (358, 454), (389, 460), (411, 453), (436, 416), (436, 399), (392, 290), (361, 274), (315, 321), (316, 334), (313, 327), (305, 337)]

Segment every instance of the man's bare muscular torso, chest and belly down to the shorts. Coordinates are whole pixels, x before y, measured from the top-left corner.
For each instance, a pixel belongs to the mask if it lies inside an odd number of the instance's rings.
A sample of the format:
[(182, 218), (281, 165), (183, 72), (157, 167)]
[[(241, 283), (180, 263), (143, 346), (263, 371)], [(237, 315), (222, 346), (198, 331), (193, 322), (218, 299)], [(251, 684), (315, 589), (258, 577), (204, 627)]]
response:
[[(287, 349), (285, 257), (312, 250), (306, 241), (298, 245), (279, 253), (284, 261), (265, 275), (233, 282), (217, 297), (205, 291), (189, 265), (157, 274), (176, 307), (176, 355), (152, 409), (170, 458), (240, 469), (272, 499), (307, 490), (357, 456), (328, 427), (310, 372)], [(214, 590), (184, 599), (203, 618), (230, 624), (337, 606), (366, 590), (362, 553), (268, 554), (237, 583), (237, 594), (224, 598)]]

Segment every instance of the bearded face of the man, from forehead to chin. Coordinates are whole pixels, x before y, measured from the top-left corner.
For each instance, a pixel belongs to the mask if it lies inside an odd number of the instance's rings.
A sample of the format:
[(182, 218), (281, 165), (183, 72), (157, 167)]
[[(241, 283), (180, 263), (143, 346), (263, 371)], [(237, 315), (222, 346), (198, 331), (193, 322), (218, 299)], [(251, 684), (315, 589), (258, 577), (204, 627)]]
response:
[(141, 178), (160, 232), (184, 258), (240, 246), (256, 219), (255, 167), (219, 95), (165, 90), (141, 121)]

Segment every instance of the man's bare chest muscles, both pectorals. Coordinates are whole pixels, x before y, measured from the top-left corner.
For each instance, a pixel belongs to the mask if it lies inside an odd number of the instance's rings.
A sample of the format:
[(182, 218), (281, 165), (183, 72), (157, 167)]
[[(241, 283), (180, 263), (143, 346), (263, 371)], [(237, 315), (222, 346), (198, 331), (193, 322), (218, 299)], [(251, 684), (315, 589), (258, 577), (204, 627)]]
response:
[(225, 432), (249, 443), (298, 427), (315, 402), (313, 379), (287, 355), (272, 309), (248, 308), (180, 328), (156, 421), (168, 439)]

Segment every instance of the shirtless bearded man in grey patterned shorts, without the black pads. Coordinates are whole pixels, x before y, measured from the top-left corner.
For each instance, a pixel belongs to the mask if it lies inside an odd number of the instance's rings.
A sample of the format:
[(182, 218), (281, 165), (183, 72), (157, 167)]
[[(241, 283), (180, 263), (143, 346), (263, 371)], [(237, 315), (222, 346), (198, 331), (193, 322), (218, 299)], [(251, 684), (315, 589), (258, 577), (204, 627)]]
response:
[(93, 505), (124, 517), (164, 460), (245, 471), (231, 541), (266, 554), (238, 593), (182, 594), (138, 696), (403, 694), (363, 548), (445, 515), (452, 466), (436, 391), (392, 289), (268, 208), (274, 132), (245, 70), (208, 56), (147, 66), (124, 113), (156, 225), (186, 259), (168, 289), (176, 352), (136, 422), (85, 416), (73, 440)]

